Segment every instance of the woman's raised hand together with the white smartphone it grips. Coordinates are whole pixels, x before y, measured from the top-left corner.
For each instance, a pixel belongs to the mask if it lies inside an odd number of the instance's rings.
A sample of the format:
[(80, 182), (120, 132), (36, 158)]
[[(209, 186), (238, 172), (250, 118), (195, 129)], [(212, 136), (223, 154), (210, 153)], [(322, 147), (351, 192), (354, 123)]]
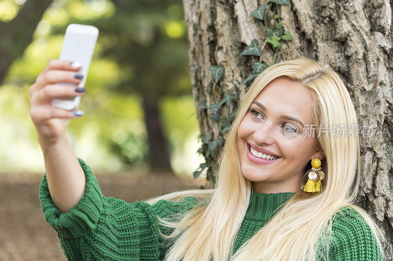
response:
[[(82, 27), (85, 31), (81, 34)], [(30, 117), (37, 129), (40, 144), (56, 143), (67, 136), (69, 120), (84, 114), (74, 109), (78, 108), (81, 96), (84, 95), (80, 89), (84, 87), (97, 40), (98, 30), (94, 28), (70, 24), (60, 54), (60, 57), (68, 58), (51, 60), (28, 90)], [(86, 33), (88, 31), (93, 34)], [(80, 49), (71, 47), (77, 45)]]

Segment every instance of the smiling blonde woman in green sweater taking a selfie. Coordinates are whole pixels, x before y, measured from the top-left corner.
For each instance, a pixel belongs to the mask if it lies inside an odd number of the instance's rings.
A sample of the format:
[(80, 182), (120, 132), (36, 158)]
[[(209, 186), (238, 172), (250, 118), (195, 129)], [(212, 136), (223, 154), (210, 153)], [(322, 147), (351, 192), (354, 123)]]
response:
[(354, 205), (359, 137), (334, 132), (358, 124), (335, 71), (308, 58), (267, 68), (226, 136), (216, 188), (129, 204), (102, 195), (67, 137), (73, 112), (50, 106), (83, 95), (52, 85), (78, 84), (77, 70), (53, 60), (29, 90), (46, 168), (41, 207), (68, 260), (383, 259), (383, 232)]

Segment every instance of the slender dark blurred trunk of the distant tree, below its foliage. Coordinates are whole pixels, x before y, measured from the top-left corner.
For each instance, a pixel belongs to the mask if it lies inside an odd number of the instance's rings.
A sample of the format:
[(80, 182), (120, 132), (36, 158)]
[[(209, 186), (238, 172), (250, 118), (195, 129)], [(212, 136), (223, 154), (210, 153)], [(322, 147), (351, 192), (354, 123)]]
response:
[(168, 148), (162, 132), (157, 100), (143, 97), (144, 121), (146, 124), (150, 170), (156, 172), (172, 172)]

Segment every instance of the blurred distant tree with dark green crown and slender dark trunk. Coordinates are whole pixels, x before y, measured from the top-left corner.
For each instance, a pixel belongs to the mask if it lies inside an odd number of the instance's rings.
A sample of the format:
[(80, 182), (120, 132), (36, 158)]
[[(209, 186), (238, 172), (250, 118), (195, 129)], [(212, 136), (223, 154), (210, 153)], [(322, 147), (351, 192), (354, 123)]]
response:
[[(150, 167), (170, 170), (158, 105), (162, 96), (191, 93), (191, 83), (177, 84), (188, 73), (187, 34), (183, 33), (186, 23), (181, 2), (117, 0), (114, 3), (116, 14), (110, 20), (96, 22), (101, 32), (115, 41), (103, 55), (113, 57), (121, 68), (132, 70), (124, 75), (114, 91), (140, 95)], [(168, 12), (165, 14), (162, 10)]]

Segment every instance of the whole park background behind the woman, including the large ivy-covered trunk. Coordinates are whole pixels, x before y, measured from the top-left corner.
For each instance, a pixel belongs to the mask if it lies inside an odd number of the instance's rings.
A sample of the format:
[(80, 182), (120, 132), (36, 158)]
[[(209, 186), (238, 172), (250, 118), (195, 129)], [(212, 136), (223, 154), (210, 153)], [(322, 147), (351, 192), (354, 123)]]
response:
[[(27, 93), (46, 63), (58, 57), (71, 23), (93, 24), (100, 30), (80, 106), (86, 114), (72, 120), (69, 135), (104, 195), (133, 202), (152, 193), (201, 188), (203, 180), (205, 188), (213, 188), (225, 133), (252, 80), (276, 61), (311, 57), (342, 76), (359, 124), (376, 126), (372, 137), (360, 136), (357, 202), (384, 230), (384, 248), (392, 253), (389, 1), (182, 2), (0, 0), (0, 259), (64, 260), (37, 198), (43, 160), (28, 116)], [(198, 124), (193, 125), (195, 116)], [(18, 127), (11, 129), (9, 122)], [(32, 142), (26, 145), (22, 141), (28, 136)], [(94, 144), (87, 146), (90, 140)], [(192, 149), (187, 141), (200, 146)], [(91, 156), (90, 150), (99, 156)], [(24, 154), (31, 162), (23, 163)], [(26, 169), (34, 165), (40, 170)], [(22, 172), (14, 172), (17, 168)], [(193, 179), (191, 172), (202, 179)], [(392, 254), (388, 260), (393, 260)]]

